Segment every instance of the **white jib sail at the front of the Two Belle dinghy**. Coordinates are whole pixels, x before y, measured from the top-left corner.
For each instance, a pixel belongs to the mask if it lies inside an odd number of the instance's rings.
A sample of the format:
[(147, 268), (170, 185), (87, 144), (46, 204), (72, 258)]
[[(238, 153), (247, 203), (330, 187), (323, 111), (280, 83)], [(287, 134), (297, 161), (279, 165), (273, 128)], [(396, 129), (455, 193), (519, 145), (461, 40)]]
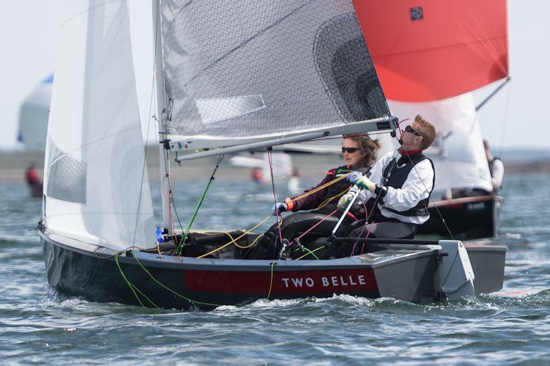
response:
[(69, 0), (45, 155), (52, 231), (124, 249), (155, 243), (126, 1)]

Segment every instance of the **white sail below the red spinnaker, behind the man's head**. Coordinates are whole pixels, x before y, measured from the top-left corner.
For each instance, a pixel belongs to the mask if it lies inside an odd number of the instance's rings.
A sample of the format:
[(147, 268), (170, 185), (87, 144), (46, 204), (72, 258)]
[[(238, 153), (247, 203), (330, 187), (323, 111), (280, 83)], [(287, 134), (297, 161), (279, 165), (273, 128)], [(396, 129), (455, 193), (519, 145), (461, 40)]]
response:
[[(441, 199), (451, 188), (492, 191), (472, 93), (435, 102), (404, 103), (388, 100), (388, 104), (399, 120), (409, 119), (401, 127), (411, 124), (418, 114), (435, 127), (435, 141), (424, 152), (434, 162), (435, 187), (432, 197), (435, 200)], [(397, 146), (395, 139), (393, 144)], [(384, 144), (384, 148), (386, 146)]]

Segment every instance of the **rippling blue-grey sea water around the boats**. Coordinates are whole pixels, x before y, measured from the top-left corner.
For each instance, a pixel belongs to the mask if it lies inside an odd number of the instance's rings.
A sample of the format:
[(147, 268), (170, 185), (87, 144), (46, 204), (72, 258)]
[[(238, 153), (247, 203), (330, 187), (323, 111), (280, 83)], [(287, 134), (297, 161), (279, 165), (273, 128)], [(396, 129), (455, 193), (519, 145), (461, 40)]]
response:
[[(428, 305), (348, 295), (263, 299), (210, 312), (98, 304), (57, 293), (47, 284), (33, 230), (41, 201), (30, 198), (25, 185), (2, 183), (0, 360), (549, 364), (549, 181), (548, 174), (506, 176), (501, 193), (507, 201), (494, 242), (509, 251), (504, 288), (496, 293)], [(206, 181), (175, 183), (183, 227), (205, 186)], [(214, 181), (193, 227), (249, 229), (270, 214), (272, 203), (270, 185)]]

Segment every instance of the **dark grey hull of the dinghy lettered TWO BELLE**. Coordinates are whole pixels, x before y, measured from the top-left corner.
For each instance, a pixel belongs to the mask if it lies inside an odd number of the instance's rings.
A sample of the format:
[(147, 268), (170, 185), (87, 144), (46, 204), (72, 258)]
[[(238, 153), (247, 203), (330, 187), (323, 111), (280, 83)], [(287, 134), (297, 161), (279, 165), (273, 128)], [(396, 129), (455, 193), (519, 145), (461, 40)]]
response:
[[(265, 298), (349, 294), (421, 303), (444, 296), (437, 245), (388, 244), (375, 253), (332, 260), (224, 260), (116, 253), (56, 233), (44, 231), (40, 236), (48, 282), (63, 294), (90, 301), (209, 310)], [(476, 273), (476, 283), (483, 290), (498, 290), (506, 249), (483, 247), (469, 252), (474, 272), (482, 274)], [(487, 260), (502, 267), (495, 264), (481, 271)]]

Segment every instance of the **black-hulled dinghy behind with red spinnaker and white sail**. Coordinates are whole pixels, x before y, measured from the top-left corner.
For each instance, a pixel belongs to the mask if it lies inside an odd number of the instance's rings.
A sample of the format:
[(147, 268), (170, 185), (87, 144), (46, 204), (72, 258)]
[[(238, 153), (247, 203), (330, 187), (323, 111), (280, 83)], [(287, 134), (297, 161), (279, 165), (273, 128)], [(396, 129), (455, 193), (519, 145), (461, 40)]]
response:
[(353, 2), (392, 113), (406, 124), (420, 114), (437, 131), (425, 152), (434, 202), (418, 232), (496, 236), (504, 198), (493, 192), (476, 116), (487, 100), (476, 106), (472, 92), (496, 83), (491, 98), (510, 80), (506, 0)]

